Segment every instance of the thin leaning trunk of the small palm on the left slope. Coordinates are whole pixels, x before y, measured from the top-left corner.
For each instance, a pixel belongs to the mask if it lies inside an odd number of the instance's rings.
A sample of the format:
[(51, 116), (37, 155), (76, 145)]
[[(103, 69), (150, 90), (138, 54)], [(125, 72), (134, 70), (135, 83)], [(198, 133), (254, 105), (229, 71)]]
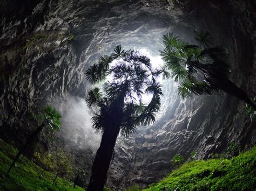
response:
[(40, 126), (38, 126), (38, 128), (26, 139), (26, 143), (23, 145), (23, 147), (19, 150), (19, 152), (16, 154), (14, 161), (12, 161), (11, 166), (9, 167), (7, 173), (10, 173), (11, 168), (15, 165), (15, 162), (18, 160), (18, 158), (21, 156), (21, 154), (24, 154), (26, 150), (28, 150), (28, 148), (30, 146), (33, 145), (33, 143), (35, 143), (36, 137), (39, 135), (39, 133), (42, 131), (44, 127), (44, 123), (42, 123)]

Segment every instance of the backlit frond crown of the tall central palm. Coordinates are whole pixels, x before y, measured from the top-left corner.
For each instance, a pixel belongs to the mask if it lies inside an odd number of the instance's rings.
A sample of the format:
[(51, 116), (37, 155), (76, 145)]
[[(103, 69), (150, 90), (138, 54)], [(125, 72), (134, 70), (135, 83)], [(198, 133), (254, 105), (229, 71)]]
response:
[[(122, 136), (129, 136), (137, 126), (149, 125), (156, 120), (155, 113), (160, 109), (160, 96), (163, 95), (157, 78), (159, 75), (165, 78), (171, 76), (167, 66), (153, 69), (147, 56), (133, 49), (125, 51), (120, 45), (114, 48), (112, 54), (101, 56), (97, 64), (86, 70), (85, 75), (91, 83), (112, 76), (112, 80), (104, 84), (103, 91), (98, 87), (89, 90), (86, 102), (89, 107), (99, 110), (92, 117), (96, 132), (104, 132), (113, 111), (120, 110), (117, 125)], [(147, 105), (142, 100), (142, 95), (146, 93), (152, 95)]]

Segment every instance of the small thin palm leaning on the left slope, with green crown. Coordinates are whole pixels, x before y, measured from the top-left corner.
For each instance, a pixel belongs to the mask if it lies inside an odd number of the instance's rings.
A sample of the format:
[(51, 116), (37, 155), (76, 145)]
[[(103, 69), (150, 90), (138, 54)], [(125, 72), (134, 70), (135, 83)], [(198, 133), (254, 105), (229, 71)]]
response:
[(16, 154), (7, 173), (10, 173), (11, 168), (15, 165), (15, 162), (18, 160), (21, 154), (24, 154), (26, 151), (32, 148), (33, 145), (37, 143), (38, 136), (44, 127), (48, 127), (49, 131), (56, 131), (60, 129), (60, 117), (61, 116), (58, 114), (58, 112), (55, 109), (52, 109), (50, 106), (45, 107), (43, 109), (43, 112), (38, 116), (36, 116), (36, 118), (40, 122), (40, 125), (36, 128), (35, 131), (33, 131), (33, 133), (28, 138), (26, 138), (25, 144), (21, 147), (21, 149)]

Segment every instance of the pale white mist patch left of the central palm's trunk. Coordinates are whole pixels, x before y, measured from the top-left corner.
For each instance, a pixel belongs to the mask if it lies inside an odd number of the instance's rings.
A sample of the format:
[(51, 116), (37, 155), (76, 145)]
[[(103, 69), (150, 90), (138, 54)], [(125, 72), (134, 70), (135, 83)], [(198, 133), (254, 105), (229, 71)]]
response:
[(61, 130), (56, 135), (63, 140), (64, 147), (92, 150), (99, 147), (100, 135), (92, 129), (92, 114), (83, 98), (55, 98), (51, 105), (62, 115)]

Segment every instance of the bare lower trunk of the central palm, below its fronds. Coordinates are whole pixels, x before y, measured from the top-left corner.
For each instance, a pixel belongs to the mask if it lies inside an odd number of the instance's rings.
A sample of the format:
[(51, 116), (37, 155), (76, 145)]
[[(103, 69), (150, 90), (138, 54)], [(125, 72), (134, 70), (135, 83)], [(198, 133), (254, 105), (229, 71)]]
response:
[(107, 130), (104, 130), (102, 142), (93, 161), (92, 174), (87, 191), (103, 190), (118, 133), (119, 128), (115, 128), (115, 130), (107, 128)]

